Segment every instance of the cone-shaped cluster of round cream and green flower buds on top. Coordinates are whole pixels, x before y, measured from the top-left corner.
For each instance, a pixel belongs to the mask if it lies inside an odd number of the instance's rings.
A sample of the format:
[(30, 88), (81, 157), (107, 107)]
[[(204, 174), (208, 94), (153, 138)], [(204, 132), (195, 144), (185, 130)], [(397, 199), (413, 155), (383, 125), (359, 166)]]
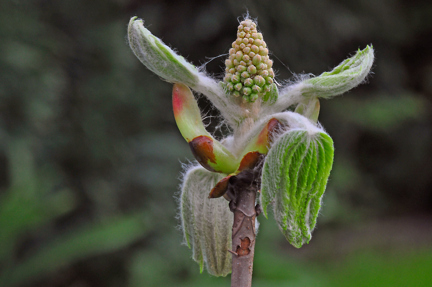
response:
[(223, 81), (226, 91), (243, 102), (253, 103), (258, 98), (267, 101), (273, 84), (273, 62), (263, 35), (257, 31), (257, 23), (251, 19), (238, 26), (237, 39), (232, 42), (229, 58), (225, 61), (226, 75)]

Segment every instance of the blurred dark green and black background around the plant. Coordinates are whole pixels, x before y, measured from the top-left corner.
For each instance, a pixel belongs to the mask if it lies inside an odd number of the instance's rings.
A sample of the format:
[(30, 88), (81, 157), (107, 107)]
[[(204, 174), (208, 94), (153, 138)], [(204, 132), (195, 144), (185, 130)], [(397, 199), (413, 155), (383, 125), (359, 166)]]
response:
[[(431, 286), (426, 0), (1, 1), (0, 286), (229, 286), (181, 245), (176, 192), (192, 155), (172, 85), (125, 36), (138, 16), (200, 65), (228, 53), (246, 9), (280, 82), (376, 51), (367, 85), (321, 101), (335, 159), (311, 242), (295, 249), (260, 216), (253, 286)], [(206, 69), (221, 76), (223, 60)], [(217, 111), (199, 104), (214, 128)]]

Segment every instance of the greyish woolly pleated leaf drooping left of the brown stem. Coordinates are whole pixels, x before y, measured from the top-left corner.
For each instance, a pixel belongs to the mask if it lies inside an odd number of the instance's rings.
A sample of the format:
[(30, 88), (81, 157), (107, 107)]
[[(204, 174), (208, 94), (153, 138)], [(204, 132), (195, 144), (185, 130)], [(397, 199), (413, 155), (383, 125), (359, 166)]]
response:
[(231, 273), (231, 229), (234, 215), (226, 200), (208, 199), (210, 190), (224, 177), (201, 166), (184, 175), (181, 186), (180, 212), (184, 239), (193, 251), (193, 259), (203, 271), (215, 276)]

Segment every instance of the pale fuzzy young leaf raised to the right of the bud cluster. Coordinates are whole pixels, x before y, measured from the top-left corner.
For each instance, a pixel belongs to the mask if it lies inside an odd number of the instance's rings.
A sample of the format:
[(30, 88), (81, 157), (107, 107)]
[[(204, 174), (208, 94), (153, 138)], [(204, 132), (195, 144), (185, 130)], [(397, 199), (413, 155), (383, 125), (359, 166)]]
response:
[(331, 72), (324, 72), (319, 76), (302, 82), (302, 95), (305, 97), (330, 98), (340, 95), (359, 85), (368, 75), (374, 61), (372, 46), (343, 61)]

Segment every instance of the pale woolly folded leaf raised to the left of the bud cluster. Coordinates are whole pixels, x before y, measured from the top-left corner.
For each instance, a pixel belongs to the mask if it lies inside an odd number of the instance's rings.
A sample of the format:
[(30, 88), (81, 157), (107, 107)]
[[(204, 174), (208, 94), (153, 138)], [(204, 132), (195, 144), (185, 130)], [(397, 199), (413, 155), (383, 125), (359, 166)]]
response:
[(127, 37), (133, 54), (153, 73), (172, 83), (194, 86), (198, 71), (183, 57), (153, 36), (143, 25), (143, 20), (130, 18)]

